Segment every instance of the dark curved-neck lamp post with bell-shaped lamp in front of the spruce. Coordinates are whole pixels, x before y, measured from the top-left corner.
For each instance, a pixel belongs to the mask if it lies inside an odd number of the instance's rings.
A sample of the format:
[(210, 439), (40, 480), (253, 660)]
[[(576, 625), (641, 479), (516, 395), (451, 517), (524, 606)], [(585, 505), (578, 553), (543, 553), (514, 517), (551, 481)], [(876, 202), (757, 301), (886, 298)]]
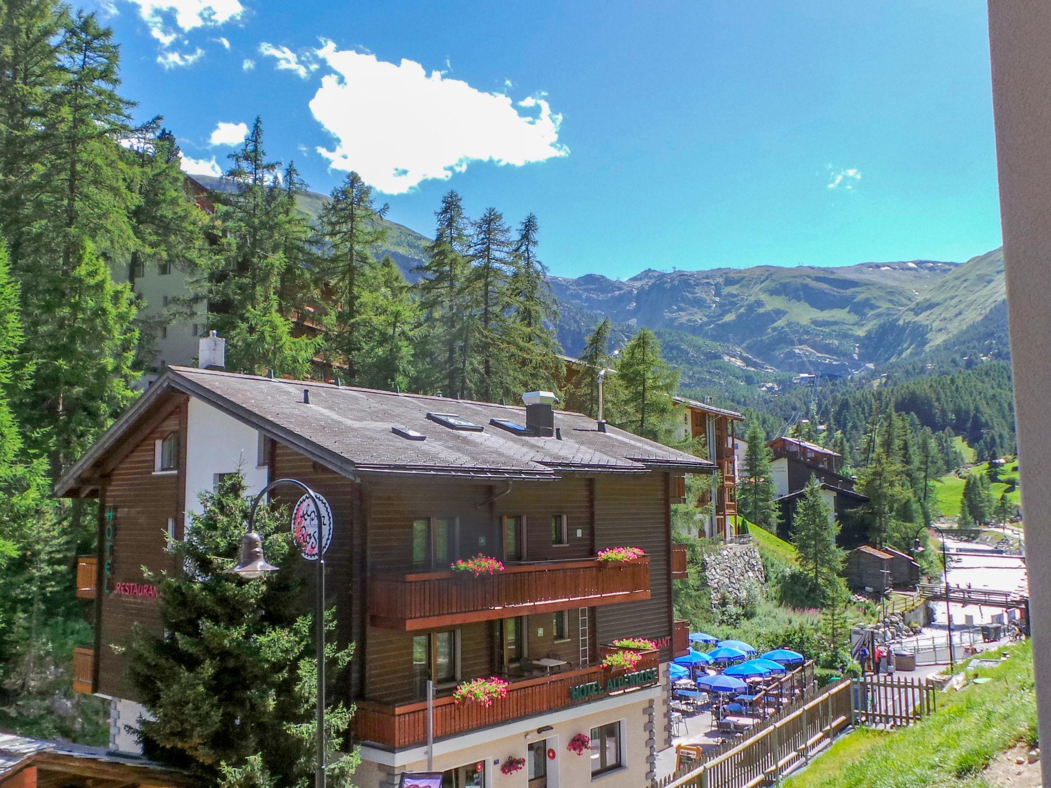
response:
[(259, 509), (264, 496), (283, 484), (300, 488), (310, 499), (314, 516), (317, 518), (317, 599), (314, 608), (317, 651), (317, 765), (314, 771), (314, 788), (325, 788), (325, 544), (322, 533), (322, 507), (314, 491), (298, 479), (274, 479), (263, 488), (252, 500), (252, 507), (248, 513), (248, 526), (241, 538), (241, 557), (238, 559), (238, 564), (224, 569), (224, 573), (252, 580), (263, 577), (268, 572), (277, 571), (279, 567), (266, 562), (266, 557), (263, 555), (263, 537), (252, 531), (252, 523), (255, 522), (255, 510)]

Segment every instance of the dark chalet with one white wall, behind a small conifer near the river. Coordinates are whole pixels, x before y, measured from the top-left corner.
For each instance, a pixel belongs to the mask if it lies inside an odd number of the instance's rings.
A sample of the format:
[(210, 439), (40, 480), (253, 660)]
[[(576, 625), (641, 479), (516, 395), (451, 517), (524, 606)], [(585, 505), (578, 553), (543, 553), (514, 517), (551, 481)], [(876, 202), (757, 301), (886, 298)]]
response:
[(780, 437), (769, 441), (774, 454), (770, 479), (774, 481), (776, 502), (781, 510), (778, 536), (790, 539), (792, 518), (803, 492), (811, 476), (821, 484), (821, 495), (840, 521), (839, 542), (844, 547), (854, 547), (865, 540), (863, 530), (856, 522), (853, 511), (868, 501), (854, 492), (854, 480), (840, 474), (843, 457), (830, 449), (798, 438)]

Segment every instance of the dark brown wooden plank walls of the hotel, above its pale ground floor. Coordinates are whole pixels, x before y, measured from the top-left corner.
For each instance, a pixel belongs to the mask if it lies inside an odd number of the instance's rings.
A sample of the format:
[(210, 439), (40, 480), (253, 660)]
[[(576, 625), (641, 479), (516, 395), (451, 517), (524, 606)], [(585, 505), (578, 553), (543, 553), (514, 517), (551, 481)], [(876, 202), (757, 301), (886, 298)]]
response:
[[(186, 396), (163, 399), (101, 461), (96, 646), (76, 656), (79, 691), (137, 700), (121, 651), (111, 646), (126, 644), (133, 623), (160, 627), (157, 598), (142, 593), (141, 567), (178, 571), (164, 546), (169, 536), (183, 537), (188, 418)], [(178, 436), (180, 461), (159, 472), (157, 441), (169, 435)], [(617, 638), (658, 642), (659, 652), (646, 658), (654, 667), (684, 650), (678, 641), (686, 628), (674, 623), (671, 585), (681, 554), (671, 544), (669, 502), (681, 473), (564, 471), (514, 483), (426, 474), (352, 479), (279, 440), (266, 445), (269, 480), (297, 479), (332, 510), (326, 602), (335, 607), (337, 640), (355, 645), (337, 693), (357, 704), (359, 741), (387, 749), (419, 741), (419, 638), (452, 633), (455, 642), (454, 676), (437, 687), (436, 738), (586, 703), (571, 701), (569, 688), (598, 680), (602, 646)], [(297, 490), (277, 489), (273, 502), (298, 497)], [(515, 556), (504, 543), (509, 518), (520, 537)], [(414, 523), (439, 519), (451, 523), (449, 554), (420, 567)], [(604, 547), (627, 545), (645, 557), (613, 564), (595, 558)], [(449, 561), (479, 553), (501, 558), (504, 572), (479, 578), (450, 572)], [(78, 580), (78, 593), (82, 585), (91, 583)], [(564, 665), (548, 676), (533, 665), (538, 659)], [(507, 702), (492, 709), (452, 703), (457, 684), (494, 675), (512, 682)]]

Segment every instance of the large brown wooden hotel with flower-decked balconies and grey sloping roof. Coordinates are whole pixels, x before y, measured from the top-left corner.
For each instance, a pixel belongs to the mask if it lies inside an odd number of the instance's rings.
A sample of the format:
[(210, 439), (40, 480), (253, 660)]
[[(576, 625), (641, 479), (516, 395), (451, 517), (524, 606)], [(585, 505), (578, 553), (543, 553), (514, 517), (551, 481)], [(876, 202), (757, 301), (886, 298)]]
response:
[[(339, 687), (357, 705), (355, 784), (391, 788), (425, 769), (428, 680), (434, 766), (449, 785), (647, 783), (671, 744), (666, 664), (688, 635), (673, 618), (671, 503), (684, 474), (713, 466), (554, 411), (545, 393), (524, 398), (523, 409), (165, 371), (56, 485), (100, 502), (99, 552), (82, 559), (77, 592), (95, 599), (95, 648), (75, 655), (75, 676), (81, 691), (111, 700), (112, 749), (135, 748), (123, 726), (143, 708), (111, 646), (133, 622), (159, 626), (141, 567), (178, 571), (166, 533), (182, 538), (198, 496), (240, 468), (248, 492), (291, 477), (330, 511), (327, 601), (337, 638), (356, 644)], [(282, 503), (300, 499), (275, 492)], [(645, 556), (597, 560), (613, 546)], [(450, 571), (479, 553), (506, 569)], [(603, 651), (631, 636), (658, 649), (611, 677)], [(506, 699), (453, 703), (458, 684), (493, 675), (510, 681)], [(582, 756), (568, 748), (577, 734), (591, 740)], [(504, 776), (509, 758), (529, 768)]]

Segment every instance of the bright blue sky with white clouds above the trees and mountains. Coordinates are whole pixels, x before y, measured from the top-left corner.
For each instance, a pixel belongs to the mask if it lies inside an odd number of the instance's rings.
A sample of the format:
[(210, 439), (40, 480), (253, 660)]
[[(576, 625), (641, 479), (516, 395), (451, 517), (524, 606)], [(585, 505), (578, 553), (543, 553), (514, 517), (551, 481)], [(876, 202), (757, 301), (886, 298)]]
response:
[(1001, 243), (985, 0), (99, 7), (197, 167), (261, 115), (311, 188), (353, 167), (424, 233), (449, 188), (535, 212), (558, 275)]

